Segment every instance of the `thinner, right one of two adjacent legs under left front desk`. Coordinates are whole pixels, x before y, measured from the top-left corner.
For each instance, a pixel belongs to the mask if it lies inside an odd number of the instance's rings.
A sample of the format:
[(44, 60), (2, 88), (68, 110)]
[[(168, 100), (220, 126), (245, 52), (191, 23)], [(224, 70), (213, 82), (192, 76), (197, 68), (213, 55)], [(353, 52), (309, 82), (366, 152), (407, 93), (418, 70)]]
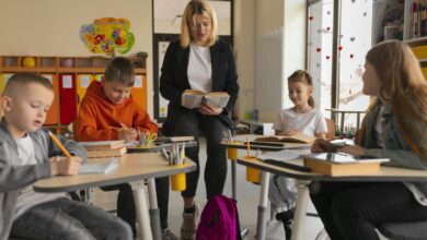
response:
[(153, 238), (155, 240), (162, 240), (162, 228), (160, 226), (160, 209), (158, 206), (155, 182), (153, 178), (148, 180), (148, 197), (150, 202), (150, 223)]

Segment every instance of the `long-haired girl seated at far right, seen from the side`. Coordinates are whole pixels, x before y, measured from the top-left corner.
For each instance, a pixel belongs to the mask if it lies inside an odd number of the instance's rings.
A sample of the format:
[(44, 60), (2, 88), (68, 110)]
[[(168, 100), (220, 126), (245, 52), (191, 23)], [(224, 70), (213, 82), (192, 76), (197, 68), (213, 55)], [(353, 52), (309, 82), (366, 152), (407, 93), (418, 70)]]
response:
[[(418, 59), (400, 41), (366, 56), (362, 93), (376, 97), (360, 139), (339, 152), (390, 158), (396, 167), (427, 170), (427, 83)], [(318, 140), (312, 152), (333, 149)], [(426, 182), (316, 182), (311, 200), (331, 239), (379, 239), (381, 223), (427, 220)]]

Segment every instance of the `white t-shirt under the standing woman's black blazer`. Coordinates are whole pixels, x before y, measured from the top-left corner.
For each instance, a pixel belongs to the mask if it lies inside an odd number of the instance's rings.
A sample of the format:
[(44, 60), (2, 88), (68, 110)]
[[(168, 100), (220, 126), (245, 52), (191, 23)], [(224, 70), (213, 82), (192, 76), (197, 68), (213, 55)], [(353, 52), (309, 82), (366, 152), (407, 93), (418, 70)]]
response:
[(209, 47), (194, 43), (189, 45), (187, 76), (192, 89), (203, 93), (212, 92), (212, 64)]

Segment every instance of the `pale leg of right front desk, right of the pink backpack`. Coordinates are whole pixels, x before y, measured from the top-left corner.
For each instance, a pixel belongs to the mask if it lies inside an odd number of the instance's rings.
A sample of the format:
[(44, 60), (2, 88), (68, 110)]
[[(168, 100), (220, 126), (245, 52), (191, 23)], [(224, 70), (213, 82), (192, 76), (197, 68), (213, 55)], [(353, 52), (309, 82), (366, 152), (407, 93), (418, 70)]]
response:
[(309, 201), (309, 181), (297, 180), (298, 196), (297, 207), (293, 217), (291, 240), (303, 239), (303, 231), (305, 227), (307, 204)]

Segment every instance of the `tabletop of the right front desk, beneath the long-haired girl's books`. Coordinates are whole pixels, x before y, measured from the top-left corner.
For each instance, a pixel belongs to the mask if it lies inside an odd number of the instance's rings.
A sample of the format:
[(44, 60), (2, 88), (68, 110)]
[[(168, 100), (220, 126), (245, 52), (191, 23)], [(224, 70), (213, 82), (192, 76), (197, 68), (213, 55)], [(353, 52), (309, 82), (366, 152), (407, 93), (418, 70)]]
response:
[[(295, 159), (287, 161), (302, 166), (302, 159)], [(427, 181), (427, 171), (414, 170), (407, 168), (395, 168), (381, 166), (379, 172), (376, 173), (358, 173), (355, 176), (339, 176), (332, 177), (316, 172), (304, 172), (299, 170), (292, 170), (284, 167), (265, 164), (258, 159), (244, 159), (239, 158), (238, 164), (261, 169), (263, 171), (269, 171), (276, 175), (291, 177), (303, 180), (318, 180), (318, 181), (384, 181), (384, 182), (396, 182), (396, 181), (408, 181), (408, 182), (425, 182)]]

